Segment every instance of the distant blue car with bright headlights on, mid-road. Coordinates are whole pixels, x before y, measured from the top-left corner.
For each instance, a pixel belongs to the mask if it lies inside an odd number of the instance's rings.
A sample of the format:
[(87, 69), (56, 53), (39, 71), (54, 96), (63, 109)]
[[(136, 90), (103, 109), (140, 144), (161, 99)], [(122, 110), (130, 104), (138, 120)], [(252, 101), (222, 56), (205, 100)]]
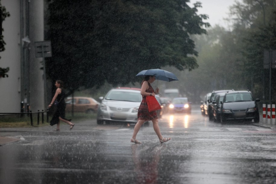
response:
[(172, 102), (169, 105), (169, 113), (188, 113), (191, 114), (192, 107), (188, 98), (179, 97), (173, 98)]

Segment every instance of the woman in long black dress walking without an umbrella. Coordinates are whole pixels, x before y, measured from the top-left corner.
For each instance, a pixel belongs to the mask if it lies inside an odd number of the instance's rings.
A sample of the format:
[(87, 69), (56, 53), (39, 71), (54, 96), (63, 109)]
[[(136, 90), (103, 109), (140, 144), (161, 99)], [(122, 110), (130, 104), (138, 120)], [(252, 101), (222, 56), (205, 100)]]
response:
[(52, 117), (52, 120), (50, 121), (50, 125), (53, 126), (54, 124), (57, 124), (56, 130), (54, 131), (60, 131), (59, 129), (59, 120), (67, 123), (70, 125), (70, 130), (74, 127), (75, 124), (71, 123), (70, 120), (65, 118), (65, 92), (63, 87), (63, 82), (61, 80), (57, 80), (55, 83), (56, 86), (56, 93), (49, 105), (49, 108), (54, 104), (54, 102), (58, 102), (56, 105), (56, 111)]

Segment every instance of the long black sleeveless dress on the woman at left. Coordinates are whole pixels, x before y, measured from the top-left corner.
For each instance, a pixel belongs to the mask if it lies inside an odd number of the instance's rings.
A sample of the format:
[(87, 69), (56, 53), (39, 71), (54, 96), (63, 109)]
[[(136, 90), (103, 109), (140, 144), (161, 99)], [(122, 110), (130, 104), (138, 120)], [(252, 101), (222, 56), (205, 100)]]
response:
[[(65, 92), (64, 90), (61, 88), (61, 93), (56, 97), (56, 101), (59, 102), (58, 105), (55, 105), (55, 111), (54, 111), (54, 115), (52, 117), (52, 120), (50, 121), (50, 125), (53, 126), (54, 124), (59, 123), (59, 117), (61, 117), (62, 119), (65, 119)], [(68, 119), (65, 119), (68, 120)]]

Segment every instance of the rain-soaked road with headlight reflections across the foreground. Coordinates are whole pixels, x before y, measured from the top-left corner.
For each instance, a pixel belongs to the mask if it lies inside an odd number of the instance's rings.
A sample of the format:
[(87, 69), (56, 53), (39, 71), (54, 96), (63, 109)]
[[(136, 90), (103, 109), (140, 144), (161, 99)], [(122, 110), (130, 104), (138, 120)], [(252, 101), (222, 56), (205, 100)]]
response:
[(152, 124), (130, 142), (134, 125), (75, 122), (53, 127), (1, 129), (22, 140), (0, 147), (1, 184), (276, 183), (276, 130), (221, 125), (201, 116), (163, 115), (160, 144)]

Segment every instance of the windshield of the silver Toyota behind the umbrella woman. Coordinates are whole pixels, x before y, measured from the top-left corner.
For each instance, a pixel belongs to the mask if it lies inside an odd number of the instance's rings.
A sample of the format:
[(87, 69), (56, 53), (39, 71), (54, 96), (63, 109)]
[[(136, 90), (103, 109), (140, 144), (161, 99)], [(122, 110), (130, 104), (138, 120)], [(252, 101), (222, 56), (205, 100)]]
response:
[(110, 91), (106, 95), (106, 100), (128, 101), (128, 102), (141, 102), (140, 92), (128, 92), (128, 91)]

